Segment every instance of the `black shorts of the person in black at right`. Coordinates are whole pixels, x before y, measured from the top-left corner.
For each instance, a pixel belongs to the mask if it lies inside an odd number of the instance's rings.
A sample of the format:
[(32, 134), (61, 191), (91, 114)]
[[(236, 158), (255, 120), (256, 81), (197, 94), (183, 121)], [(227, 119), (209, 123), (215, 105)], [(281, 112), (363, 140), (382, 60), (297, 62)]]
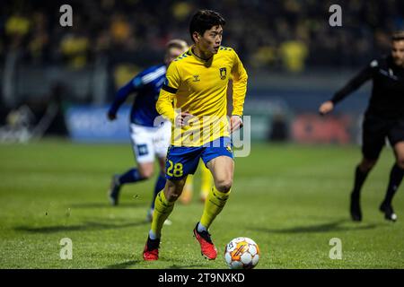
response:
[(377, 160), (386, 143), (391, 146), (404, 141), (404, 118), (384, 118), (373, 114), (364, 117), (362, 153), (365, 159)]

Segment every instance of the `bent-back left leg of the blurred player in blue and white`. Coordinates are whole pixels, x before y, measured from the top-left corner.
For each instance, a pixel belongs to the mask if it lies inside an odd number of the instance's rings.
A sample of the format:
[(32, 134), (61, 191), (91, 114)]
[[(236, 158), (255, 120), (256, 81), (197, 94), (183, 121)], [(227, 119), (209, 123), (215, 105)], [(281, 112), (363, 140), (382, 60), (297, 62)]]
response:
[(119, 203), (119, 192), (123, 185), (151, 178), (154, 173), (153, 135), (150, 135), (144, 126), (134, 124), (130, 125), (130, 133), (137, 168), (112, 177), (109, 191), (112, 205)]

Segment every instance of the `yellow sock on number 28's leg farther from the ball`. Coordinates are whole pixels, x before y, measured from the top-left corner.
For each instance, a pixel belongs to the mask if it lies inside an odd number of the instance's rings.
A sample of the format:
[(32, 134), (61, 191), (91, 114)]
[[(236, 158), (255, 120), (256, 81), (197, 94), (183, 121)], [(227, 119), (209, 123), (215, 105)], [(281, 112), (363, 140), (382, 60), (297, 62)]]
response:
[(152, 222), (152, 232), (160, 238), (162, 235), (162, 223), (168, 218), (170, 213), (174, 209), (174, 202), (168, 201), (164, 196), (164, 191), (162, 190), (157, 194), (154, 201), (154, 213)]

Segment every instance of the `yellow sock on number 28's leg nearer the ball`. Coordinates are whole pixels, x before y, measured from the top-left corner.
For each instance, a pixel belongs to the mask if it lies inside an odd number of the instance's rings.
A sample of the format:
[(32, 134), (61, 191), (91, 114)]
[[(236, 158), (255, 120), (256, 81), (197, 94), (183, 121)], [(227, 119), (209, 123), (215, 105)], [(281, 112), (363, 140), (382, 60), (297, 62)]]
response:
[(229, 190), (227, 193), (223, 193), (217, 191), (215, 186), (212, 187), (209, 195), (206, 198), (204, 213), (200, 219), (200, 224), (205, 226), (206, 229), (208, 229), (210, 224), (212, 224), (212, 222), (215, 220), (216, 215), (222, 211), (224, 204), (226, 204), (227, 198), (230, 196), (230, 193), (231, 190)]

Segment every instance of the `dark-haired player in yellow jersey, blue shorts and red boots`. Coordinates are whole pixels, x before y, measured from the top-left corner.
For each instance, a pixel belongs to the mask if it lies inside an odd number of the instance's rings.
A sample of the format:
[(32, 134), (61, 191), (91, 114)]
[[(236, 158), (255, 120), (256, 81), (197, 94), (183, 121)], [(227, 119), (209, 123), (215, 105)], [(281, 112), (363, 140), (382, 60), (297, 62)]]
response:
[[(208, 259), (217, 256), (208, 228), (230, 196), (234, 169), (230, 134), (242, 126), (247, 91), (247, 73), (242, 62), (233, 48), (221, 46), (224, 24), (224, 18), (214, 11), (195, 13), (189, 24), (194, 45), (167, 70), (156, 104), (157, 111), (173, 123), (166, 161), (167, 182), (155, 199), (152, 227), (143, 253), (145, 260), (159, 258), (162, 223), (181, 195), (187, 176), (197, 170), (199, 159), (212, 173), (214, 187), (193, 232), (202, 255)], [(230, 78), (233, 115), (229, 121), (226, 91)]]

